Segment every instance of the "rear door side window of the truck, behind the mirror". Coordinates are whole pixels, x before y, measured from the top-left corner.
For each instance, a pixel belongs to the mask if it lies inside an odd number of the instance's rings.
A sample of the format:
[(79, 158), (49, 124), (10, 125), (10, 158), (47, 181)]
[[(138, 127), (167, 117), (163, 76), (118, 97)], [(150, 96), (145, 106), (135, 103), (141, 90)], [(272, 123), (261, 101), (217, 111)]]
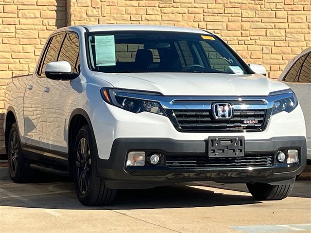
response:
[(41, 63), (41, 67), (39, 69), (38, 75), (45, 77), (44, 71), (45, 67), (49, 62), (54, 62), (56, 59), (57, 50), (63, 38), (63, 34), (55, 35), (51, 38), (51, 43), (49, 48), (46, 51), (43, 62)]

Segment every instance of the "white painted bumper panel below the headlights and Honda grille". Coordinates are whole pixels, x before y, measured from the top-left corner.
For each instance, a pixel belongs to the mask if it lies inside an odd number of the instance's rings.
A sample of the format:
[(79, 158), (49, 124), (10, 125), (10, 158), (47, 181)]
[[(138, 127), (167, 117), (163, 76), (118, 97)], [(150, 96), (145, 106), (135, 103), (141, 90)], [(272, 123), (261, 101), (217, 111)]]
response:
[[(269, 139), (281, 136), (305, 136), (305, 124), (300, 106), (291, 113), (272, 116), (263, 132), (252, 133), (182, 133), (176, 131), (170, 119), (152, 113), (139, 114), (102, 103), (94, 115), (94, 133), (100, 158), (108, 159), (112, 143), (117, 138), (172, 138), (175, 140), (206, 140), (208, 136), (244, 136), (245, 140)], [(284, 127), (286, 126), (286, 127)], [(263, 145), (264, 147), (264, 145)]]

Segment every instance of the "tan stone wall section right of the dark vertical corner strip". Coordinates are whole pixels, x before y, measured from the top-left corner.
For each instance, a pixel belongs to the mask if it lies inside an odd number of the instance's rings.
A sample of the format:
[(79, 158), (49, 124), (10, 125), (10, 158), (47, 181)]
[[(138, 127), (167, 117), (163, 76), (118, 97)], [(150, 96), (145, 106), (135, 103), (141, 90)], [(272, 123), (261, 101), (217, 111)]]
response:
[(135, 23), (201, 28), (277, 78), (311, 47), (311, 0), (71, 0), (72, 25)]

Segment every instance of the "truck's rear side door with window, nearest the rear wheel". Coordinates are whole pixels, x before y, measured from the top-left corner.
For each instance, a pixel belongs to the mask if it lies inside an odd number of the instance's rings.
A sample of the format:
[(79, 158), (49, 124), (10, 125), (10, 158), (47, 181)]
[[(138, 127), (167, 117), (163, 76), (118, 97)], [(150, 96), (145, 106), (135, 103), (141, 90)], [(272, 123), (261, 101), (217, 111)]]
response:
[(42, 95), (45, 80), (45, 66), (56, 58), (56, 54), (62, 40), (63, 33), (52, 36), (42, 52), (38, 61), (39, 65), (33, 77), (26, 86), (24, 95), (24, 138), (26, 144), (36, 147), (44, 147), (43, 135), (47, 131), (42, 121)]

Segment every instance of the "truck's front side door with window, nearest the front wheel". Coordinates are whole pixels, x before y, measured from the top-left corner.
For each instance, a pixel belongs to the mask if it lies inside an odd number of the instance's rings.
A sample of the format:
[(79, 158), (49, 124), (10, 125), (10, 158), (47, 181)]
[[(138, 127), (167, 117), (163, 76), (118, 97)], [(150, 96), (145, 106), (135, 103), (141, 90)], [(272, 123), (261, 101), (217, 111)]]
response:
[[(61, 43), (55, 61), (67, 61), (72, 73), (80, 73), (79, 39), (76, 33), (67, 32)], [(68, 152), (68, 132), (66, 117), (68, 106), (75, 100), (80, 79), (45, 79), (42, 95), (42, 122), (47, 129), (42, 135), (46, 149), (59, 151), (62, 156)], [(67, 158), (62, 158), (67, 159)]]

